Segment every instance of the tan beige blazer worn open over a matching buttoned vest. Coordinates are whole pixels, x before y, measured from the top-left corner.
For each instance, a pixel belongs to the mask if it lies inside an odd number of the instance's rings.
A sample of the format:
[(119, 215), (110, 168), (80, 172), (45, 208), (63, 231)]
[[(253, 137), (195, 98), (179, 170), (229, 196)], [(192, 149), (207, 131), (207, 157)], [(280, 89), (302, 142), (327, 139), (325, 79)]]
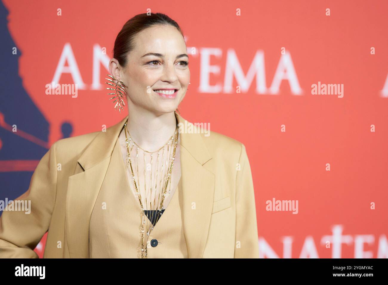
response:
[[(175, 116), (185, 126), (185, 119)], [(0, 217), (0, 257), (37, 258), (33, 249), (47, 231), (43, 257), (89, 257), (90, 216), (127, 119), (51, 146), (28, 190), (15, 199), (31, 200), (31, 213), (3, 211)], [(188, 257), (258, 258), (255, 194), (244, 145), (213, 131), (205, 136), (195, 124), (186, 124), (194, 130), (180, 133)]]

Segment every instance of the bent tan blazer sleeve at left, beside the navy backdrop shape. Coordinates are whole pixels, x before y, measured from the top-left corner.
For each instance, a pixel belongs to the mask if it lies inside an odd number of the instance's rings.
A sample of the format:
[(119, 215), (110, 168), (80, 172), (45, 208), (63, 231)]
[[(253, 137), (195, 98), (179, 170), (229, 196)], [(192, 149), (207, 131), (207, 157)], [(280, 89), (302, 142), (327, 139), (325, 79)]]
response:
[(29, 200), (30, 213), (3, 211), (0, 216), (0, 258), (39, 258), (34, 251), (49, 229), (56, 196), (55, 143), (36, 167), (28, 190), (15, 200)]

